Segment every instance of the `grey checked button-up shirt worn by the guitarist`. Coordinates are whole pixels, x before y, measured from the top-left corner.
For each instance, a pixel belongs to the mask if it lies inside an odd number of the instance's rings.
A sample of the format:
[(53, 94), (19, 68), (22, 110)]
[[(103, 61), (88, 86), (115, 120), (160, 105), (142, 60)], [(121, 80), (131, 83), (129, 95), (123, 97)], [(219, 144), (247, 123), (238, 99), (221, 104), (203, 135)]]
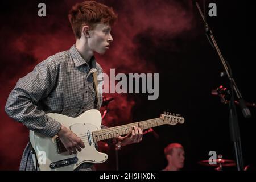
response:
[[(86, 63), (73, 45), (69, 51), (48, 57), (20, 78), (9, 95), (5, 111), (28, 129), (53, 137), (61, 124), (46, 113), (77, 117), (86, 110), (97, 108), (92, 74), (96, 71), (99, 75), (102, 68), (94, 56), (89, 64)], [(101, 106), (100, 93), (99, 102)], [(92, 164), (84, 163), (78, 169), (90, 170), (91, 167)], [(23, 152), (20, 170), (35, 170), (28, 145)]]

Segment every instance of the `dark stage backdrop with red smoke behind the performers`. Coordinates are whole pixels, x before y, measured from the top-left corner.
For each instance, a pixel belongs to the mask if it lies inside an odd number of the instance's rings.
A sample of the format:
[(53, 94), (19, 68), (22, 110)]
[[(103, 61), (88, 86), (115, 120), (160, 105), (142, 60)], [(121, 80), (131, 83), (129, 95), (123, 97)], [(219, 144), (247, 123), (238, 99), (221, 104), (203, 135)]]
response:
[[(38, 16), (38, 3), (46, 3), (47, 16)], [(67, 14), (80, 1), (1, 2), (1, 127), (0, 169), (18, 170), (28, 141), (28, 130), (10, 119), (4, 106), (16, 81), (36, 64), (57, 52), (69, 49), (75, 38)], [(183, 144), (185, 170), (213, 170), (199, 166), (216, 151), (235, 159), (229, 136), (228, 105), (221, 104), (211, 91), (229, 86), (204, 24), (192, 1), (99, 1), (112, 6), (119, 19), (112, 28), (114, 42), (105, 55), (96, 55), (104, 72), (159, 73), (159, 98), (148, 94), (106, 94), (113, 97), (103, 123), (117, 126), (156, 118), (163, 111), (179, 113), (183, 125), (159, 126), (144, 135), (141, 143), (119, 152), (121, 170), (160, 170), (166, 166), (163, 149), (171, 142)], [(203, 9), (203, 1), (199, 1)], [(255, 11), (249, 1), (205, 1), (217, 5), (217, 17), (207, 16), (218, 46), (232, 67), (234, 80), (247, 102), (255, 102), (254, 28)], [(237, 107), (245, 165), (255, 166), (255, 108), (245, 119)], [(103, 108), (102, 108), (103, 111)], [(100, 143), (108, 153), (98, 170), (115, 170), (114, 146)], [(236, 170), (226, 167), (225, 170)]]

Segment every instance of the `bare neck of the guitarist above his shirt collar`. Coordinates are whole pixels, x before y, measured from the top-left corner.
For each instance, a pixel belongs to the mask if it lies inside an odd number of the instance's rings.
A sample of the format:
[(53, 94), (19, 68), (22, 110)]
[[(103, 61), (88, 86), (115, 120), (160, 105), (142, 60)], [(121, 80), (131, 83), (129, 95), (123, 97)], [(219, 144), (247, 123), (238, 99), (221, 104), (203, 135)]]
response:
[(82, 58), (88, 63), (93, 56), (93, 51), (86, 46), (85, 40), (77, 39), (75, 46)]

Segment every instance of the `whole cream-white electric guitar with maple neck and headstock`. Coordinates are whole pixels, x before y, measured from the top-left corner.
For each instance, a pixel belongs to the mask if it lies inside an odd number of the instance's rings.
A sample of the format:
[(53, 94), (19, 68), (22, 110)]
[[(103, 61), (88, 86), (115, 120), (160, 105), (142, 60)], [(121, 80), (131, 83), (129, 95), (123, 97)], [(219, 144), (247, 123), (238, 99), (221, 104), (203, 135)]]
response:
[[(101, 130), (101, 113), (95, 109), (85, 111), (76, 118), (56, 113), (47, 115), (80, 137), (85, 144), (85, 148), (82, 148), (82, 151), (77, 152), (77, 154), (69, 155), (57, 135), (52, 138), (45, 137), (30, 130), (31, 146), (37, 156), (36, 158), (35, 155), (32, 155), (34, 164), (35, 167), (38, 164), (37, 168), (42, 171), (72, 171), (82, 163), (103, 163), (108, 159), (108, 155), (96, 150), (96, 142), (128, 134), (133, 126), (139, 125), (144, 130), (160, 125), (184, 123), (184, 118), (180, 115), (164, 113), (159, 118)], [(38, 162), (36, 159), (38, 159)]]

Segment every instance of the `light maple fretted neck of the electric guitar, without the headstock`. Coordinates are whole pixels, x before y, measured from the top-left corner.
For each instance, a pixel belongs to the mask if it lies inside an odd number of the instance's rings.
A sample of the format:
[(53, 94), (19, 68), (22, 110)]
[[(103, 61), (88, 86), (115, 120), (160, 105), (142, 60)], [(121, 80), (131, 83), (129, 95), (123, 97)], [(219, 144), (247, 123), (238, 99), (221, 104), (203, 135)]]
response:
[(120, 135), (126, 135), (133, 130), (133, 126), (141, 127), (144, 129), (149, 129), (151, 127), (156, 127), (160, 125), (164, 125), (164, 120), (162, 118), (148, 119), (146, 121), (140, 121), (135, 123), (129, 123), (127, 125), (110, 127), (108, 129), (103, 129), (100, 131), (93, 131), (93, 140), (94, 142), (98, 142), (101, 140), (106, 140), (114, 137), (118, 137)]

